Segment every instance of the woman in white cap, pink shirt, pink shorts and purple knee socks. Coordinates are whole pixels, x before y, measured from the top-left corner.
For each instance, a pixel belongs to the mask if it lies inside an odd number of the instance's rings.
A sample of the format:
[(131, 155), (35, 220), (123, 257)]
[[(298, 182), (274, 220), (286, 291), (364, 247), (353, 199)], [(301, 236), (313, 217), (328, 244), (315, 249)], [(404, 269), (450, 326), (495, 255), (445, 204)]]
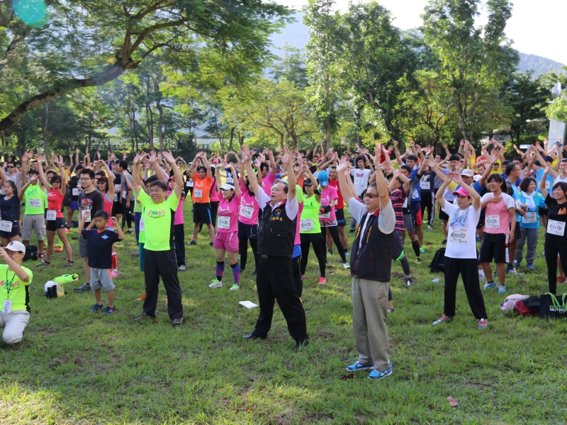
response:
[[(216, 180), (220, 181), (220, 168), (229, 169), (235, 174), (234, 166), (227, 165), (225, 162), (216, 169)], [(225, 271), (225, 255), (228, 255), (228, 262), (232, 268), (232, 276), (235, 283), (230, 290), (240, 288), (240, 267), (238, 266), (238, 210), (240, 210), (240, 188), (225, 183), (220, 186), (222, 198), (218, 205), (217, 234), (213, 247), (217, 254), (216, 276), (209, 288), (223, 287), (223, 272)]]

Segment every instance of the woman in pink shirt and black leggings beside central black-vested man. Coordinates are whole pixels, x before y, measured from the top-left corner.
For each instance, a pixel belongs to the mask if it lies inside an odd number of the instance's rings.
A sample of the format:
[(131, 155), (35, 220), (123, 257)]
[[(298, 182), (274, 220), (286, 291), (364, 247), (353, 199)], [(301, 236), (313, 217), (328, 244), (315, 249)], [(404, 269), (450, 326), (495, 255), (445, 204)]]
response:
[[(256, 179), (254, 176), (253, 179)], [(245, 271), (248, 261), (248, 241), (254, 253), (254, 273), (258, 262), (258, 212), (260, 206), (250, 191), (248, 176), (238, 179), (240, 186), (240, 215), (238, 216), (238, 254), (240, 254), (240, 272)]]

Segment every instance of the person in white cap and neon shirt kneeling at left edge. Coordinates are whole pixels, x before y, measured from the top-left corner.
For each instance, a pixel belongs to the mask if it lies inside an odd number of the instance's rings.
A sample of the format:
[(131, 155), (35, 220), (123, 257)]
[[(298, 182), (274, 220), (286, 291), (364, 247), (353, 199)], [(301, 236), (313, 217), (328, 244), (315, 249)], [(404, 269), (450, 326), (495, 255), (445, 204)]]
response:
[(9, 345), (18, 344), (30, 320), (29, 285), (33, 273), (22, 267), (26, 246), (12, 241), (5, 249), (0, 248), (0, 328), (4, 328), (2, 339)]

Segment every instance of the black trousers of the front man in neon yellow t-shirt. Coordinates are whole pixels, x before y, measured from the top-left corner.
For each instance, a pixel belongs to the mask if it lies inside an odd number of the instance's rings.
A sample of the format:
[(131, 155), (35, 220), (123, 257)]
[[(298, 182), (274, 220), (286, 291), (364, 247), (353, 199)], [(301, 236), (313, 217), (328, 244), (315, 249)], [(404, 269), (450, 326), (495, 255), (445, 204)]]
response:
[(146, 299), (142, 310), (148, 316), (155, 317), (157, 295), (159, 295), (159, 278), (164, 283), (167, 293), (167, 313), (170, 319), (183, 317), (181, 305), (181, 286), (177, 278), (175, 251), (144, 250), (144, 276), (146, 278)]

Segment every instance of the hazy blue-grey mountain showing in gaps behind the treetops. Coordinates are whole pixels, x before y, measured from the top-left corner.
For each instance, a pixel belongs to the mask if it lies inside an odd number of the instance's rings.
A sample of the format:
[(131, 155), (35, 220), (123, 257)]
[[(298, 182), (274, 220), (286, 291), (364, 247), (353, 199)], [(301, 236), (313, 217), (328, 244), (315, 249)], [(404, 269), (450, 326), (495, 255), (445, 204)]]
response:
[[(285, 43), (305, 50), (305, 45), (307, 45), (309, 41), (309, 30), (303, 25), (303, 13), (296, 13), (295, 18), (297, 22), (290, 23), (286, 28), (282, 28), (280, 34), (271, 36), (271, 42), (274, 44), (274, 47), (271, 48), (271, 52), (274, 55), (283, 56), (281, 47), (283, 47)], [(518, 55), (520, 55), (518, 68), (521, 72), (533, 69), (534, 77), (550, 71), (558, 74), (567, 74), (567, 71), (562, 68), (563, 64), (560, 62), (547, 59), (546, 57), (530, 55), (529, 53), (518, 52)]]

